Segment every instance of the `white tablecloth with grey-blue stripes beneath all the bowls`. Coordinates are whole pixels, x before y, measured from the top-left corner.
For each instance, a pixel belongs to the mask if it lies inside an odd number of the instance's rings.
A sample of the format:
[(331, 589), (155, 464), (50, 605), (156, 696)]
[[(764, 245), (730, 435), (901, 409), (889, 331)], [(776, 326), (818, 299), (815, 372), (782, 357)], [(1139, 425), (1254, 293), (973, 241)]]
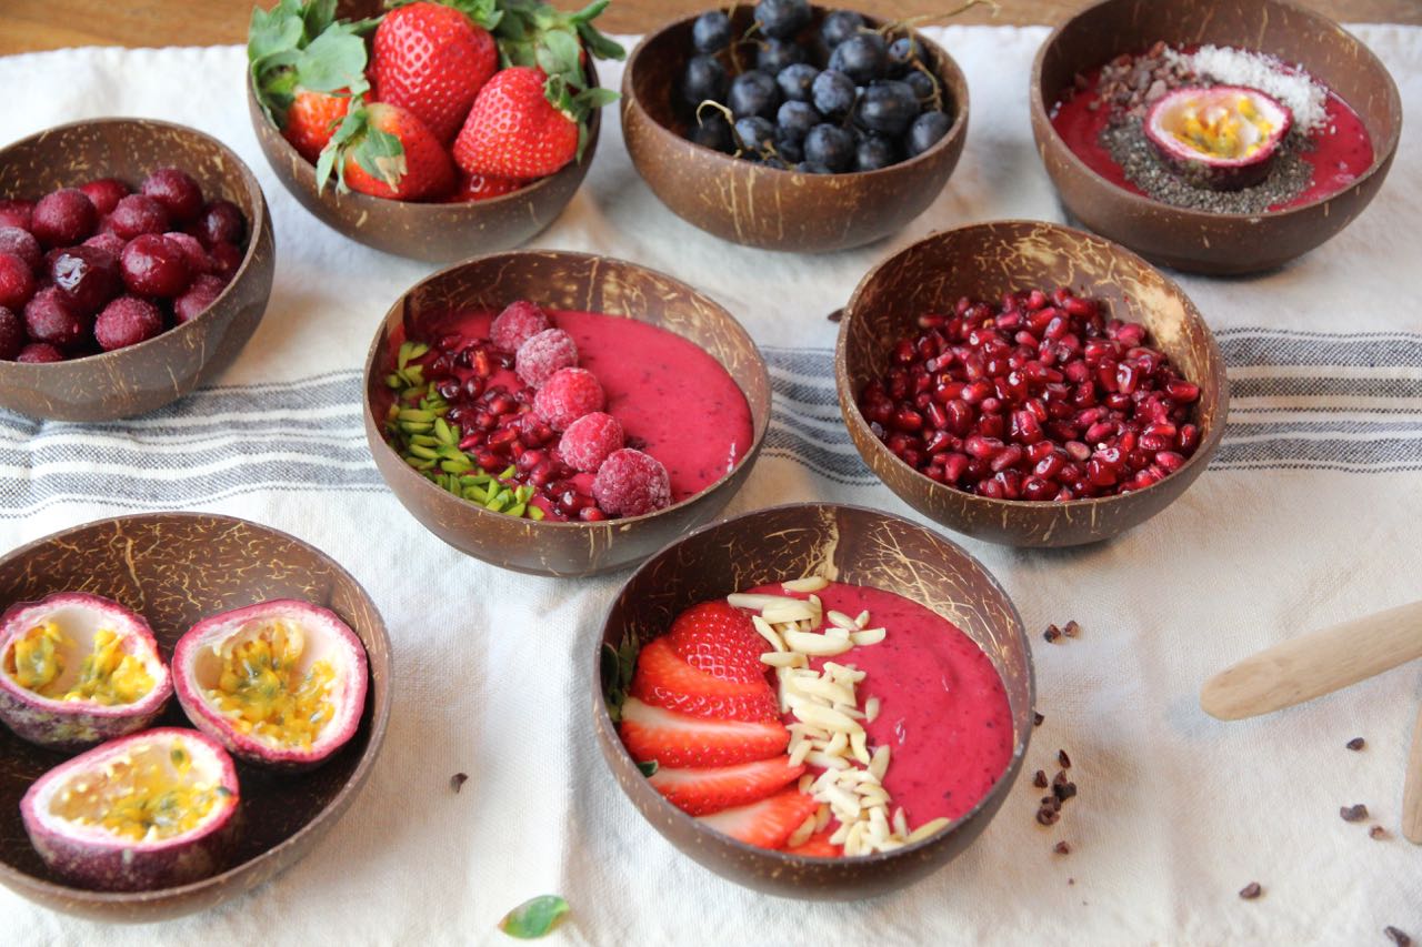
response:
[[(1422, 30), (1359, 27), (1422, 114)], [(826, 313), (877, 260), (933, 229), (1061, 220), (1027, 114), (1042, 28), (936, 38), (973, 90), (967, 151), (930, 210), (829, 256), (722, 243), (665, 210), (614, 109), (586, 185), (535, 246), (667, 270), (722, 301), (772, 365), (766, 449), (739, 513), (833, 499), (914, 515), (842, 431)], [(236, 47), (0, 58), (0, 141), (144, 115), (195, 125), (256, 171), (277, 242), (260, 330), (220, 384), (104, 425), (0, 415), (0, 546), (125, 510), (203, 509), (331, 552), (390, 624), (395, 707), (374, 778), (327, 840), (250, 894), (162, 926), (105, 929), (0, 890), (7, 943), (503, 943), (519, 901), (560, 893), (550, 943), (1331, 943), (1422, 940), (1422, 849), (1396, 836), (1422, 668), (1274, 717), (1220, 724), (1200, 683), (1264, 646), (1422, 594), (1422, 137), (1341, 236), (1277, 273), (1182, 277), (1230, 364), (1230, 429), (1209, 472), (1149, 525), (1069, 552), (954, 536), (1034, 630), (1041, 711), (1027, 768), (957, 862), (873, 901), (765, 897), (677, 853), (606, 772), (586, 668), (621, 577), (530, 579), (466, 559), (384, 489), (360, 427), (358, 368), (388, 304), (429, 266), (326, 229), (267, 169)], [(617, 67), (606, 68), (616, 88)], [(1035, 631), (1075, 619), (1082, 637)], [(1344, 748), (1367, 737), (1355, 754)], [(1031, 774), (1074, 761), (1079, 798), (1034, 820)], [(449, 776), (468, 772), (458, 795)], [(1389, 840), (1338, 808), (1367, 803)], [(1071, 845), (1054, 855), (1058, 840)], [(1244, 901), (1239, 889), (1264, 894)]]

